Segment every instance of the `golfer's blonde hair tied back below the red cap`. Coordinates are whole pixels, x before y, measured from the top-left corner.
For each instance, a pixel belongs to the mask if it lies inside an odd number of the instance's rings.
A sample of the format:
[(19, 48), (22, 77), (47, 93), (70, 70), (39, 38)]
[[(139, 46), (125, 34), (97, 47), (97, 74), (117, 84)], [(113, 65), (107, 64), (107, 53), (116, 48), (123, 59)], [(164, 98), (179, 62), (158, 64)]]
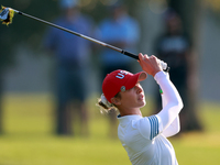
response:
[[(116, 98), (120, 98), (120, 94), (118, 92), (116, 96)], [(100, 108), (100, 112), (101, 113), (109, 113), (110, 111), (117, 111), (118, 108), (116, 107), (116, 105), (109, 102), (107, 100), (107, 98), (105, 97), (105, 95), (102, 94), (101, 97), (98, 99), (98, 103), (97, 106)]]

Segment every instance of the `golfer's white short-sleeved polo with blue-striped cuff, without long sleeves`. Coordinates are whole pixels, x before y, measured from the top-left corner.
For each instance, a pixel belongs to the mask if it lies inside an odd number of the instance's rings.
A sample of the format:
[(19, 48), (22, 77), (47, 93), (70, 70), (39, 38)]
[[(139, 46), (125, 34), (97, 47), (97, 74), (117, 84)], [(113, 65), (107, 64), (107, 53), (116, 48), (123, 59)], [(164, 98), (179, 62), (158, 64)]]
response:
[(156, 116), (118, 117), (118, 136), (132, 165), (178, 165), (170, 142), (160, 133)]

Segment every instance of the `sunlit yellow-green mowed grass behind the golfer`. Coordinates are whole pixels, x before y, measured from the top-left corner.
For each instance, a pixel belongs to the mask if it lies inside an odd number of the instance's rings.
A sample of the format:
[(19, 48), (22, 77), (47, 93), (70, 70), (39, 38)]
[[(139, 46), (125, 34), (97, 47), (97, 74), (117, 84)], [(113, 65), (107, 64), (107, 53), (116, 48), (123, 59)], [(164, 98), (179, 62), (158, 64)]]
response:
[[(108, 138), (108, 120), (88, 100), (90, 135), (56, 136), (53, 101), (47, 95), (3, 97), (0, 165), (130, 165), (118, 139)], [(151, 105), (146, 106), (151, 109)], [(145, 111), (145, 110), (143, 110)], [(205, 131), (170, 139), (179, 165), (218, 165), (220, 162), (220, 105), (202, 102)]]

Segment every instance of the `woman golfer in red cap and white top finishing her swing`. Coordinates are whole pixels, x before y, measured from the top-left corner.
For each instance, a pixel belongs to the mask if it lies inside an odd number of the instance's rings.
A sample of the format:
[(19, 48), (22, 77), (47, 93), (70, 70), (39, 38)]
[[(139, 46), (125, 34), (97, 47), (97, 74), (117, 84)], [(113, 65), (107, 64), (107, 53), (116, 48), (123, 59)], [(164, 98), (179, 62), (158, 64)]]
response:
[[(133, 75), (114, 70), (107, 75), (99, 106), (106, 110), (119, 110), (118, 136), (132, 165), (178, 165), (173, 145), (166, 138), (179, 131), (182, 99), (155, 56), (139, 54), (139, 59), (144, 72)], [(147, 77), (146, 73), (154, 77), (163, 91), (163, 109), (151, 117), (142, 117), (140, 110), (145, 106), (140, 81)]]

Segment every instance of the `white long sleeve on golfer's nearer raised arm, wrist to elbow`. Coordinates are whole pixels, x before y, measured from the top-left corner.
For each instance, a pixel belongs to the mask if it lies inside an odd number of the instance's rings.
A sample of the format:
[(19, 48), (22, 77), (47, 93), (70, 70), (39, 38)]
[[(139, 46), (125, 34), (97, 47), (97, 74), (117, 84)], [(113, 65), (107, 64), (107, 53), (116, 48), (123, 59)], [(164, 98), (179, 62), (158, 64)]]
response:
[(169, 125), (170, 128), (173, 128), (174, 125), (172, 124), (173, 122), (178, 122), (178, 119), (177, 121), (175, 121), (175, 119), (178, 117), (178, 113), (180, 112), (183, 108), (183, 101), (175, 86), (169, 80), (169, 77), (167, 74), (165, 74), (164, 72), (160, 72), (154, 76), (154, 78), (157, 81), (157, 84), (161, 86), (164, 98), (166, 99), (165, 106), (163, 107), (161, 112), (156, 114), (163, 124), (162, 127), (163, 129), (162, 132), (163, 132), (167, 130)]

